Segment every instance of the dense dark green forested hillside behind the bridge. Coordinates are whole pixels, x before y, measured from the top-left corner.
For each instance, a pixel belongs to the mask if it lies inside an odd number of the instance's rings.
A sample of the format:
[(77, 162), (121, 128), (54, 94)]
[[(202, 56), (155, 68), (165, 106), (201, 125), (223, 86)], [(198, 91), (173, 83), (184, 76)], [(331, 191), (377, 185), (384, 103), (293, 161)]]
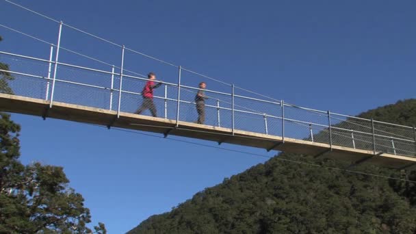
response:
[[(359, 115), (416, 125), (416, 99)], [(284, 161), (291, 159), (310, 164)], [(416, 233), (416, 172), (281, 153), (198, 192), (133, 233)], [(372, 174), (406, 180), (375, 177)]]

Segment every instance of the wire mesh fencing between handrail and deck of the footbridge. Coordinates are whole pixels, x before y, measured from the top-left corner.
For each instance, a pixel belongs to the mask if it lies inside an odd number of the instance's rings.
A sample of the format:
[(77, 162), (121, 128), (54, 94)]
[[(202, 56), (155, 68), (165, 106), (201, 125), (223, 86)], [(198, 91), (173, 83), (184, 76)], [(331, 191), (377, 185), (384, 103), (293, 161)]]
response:
[[(213, 127), (263, 133), (332, 146), (416, 156), (412, 127), (322, 112), (231, 92), (200, 90), (163, 82), (153, 90), (153, 107), (142, 95), (148, 79), (139, 73), (106, 66), (105, 70), (0, 53), (10, 72), (2, 71), (0, 90), (36, 99), (58, 101)], [(53, 79), (55, 75), (55, 79)], [(157, 84), (159, 81), (155, 81)], [(179, 91), (179, 92), (178, 92)], [(203, 105), (197, 94), (203, 91)], [(179, 101), (178, 101), (179, 97)], [(178, 109), (179, 104), (179, 109)], [(282, 106), (283, 104), (283, 106)], [(179, 114), (179, 116), (178, 116)]]

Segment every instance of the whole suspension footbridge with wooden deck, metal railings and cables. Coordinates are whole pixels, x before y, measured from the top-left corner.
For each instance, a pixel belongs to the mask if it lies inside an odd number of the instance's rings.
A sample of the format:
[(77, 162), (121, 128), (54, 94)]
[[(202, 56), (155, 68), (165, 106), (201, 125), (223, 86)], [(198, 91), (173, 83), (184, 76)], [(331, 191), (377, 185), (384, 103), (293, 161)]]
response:
[[(54, 31), (58, 33), (53, 43), (0, 22), (10, 36), (25, 38), (25, 46), (34, 51), (25, 54), (0, 50), (0, 62), (9, 66), (8, 70), (0, 69), (3, 112), (329, 157), (351, 161), (352, 165), (369, 163), (389, 168), (416, 165), (415, 127), (285, 103), (129, 49), (12, 1), (6, 2), (46, 19), (51, 30), (57, 29)], [(92, 40), (88, 44), (96, 47), (92, 54), (63, 44), (65, 30)], [(98, 42), (105, 45), (100, 47)], [(111, 61), (94, 57), (94, 51), (104, 48), (120, 55), (109, 53), (111, 58), (106, 58)], [(128, 69), (129, 61), (142, 64), (143, 69), (153, 68), (164, 77), (175, 77), (170, 82), (159, 81), (163, 85), (154, 97), (158, 117), (133, 114), (142, 101), (140, 91), (147, 78)], [(199, 125), (194, 123), (197, 118), (194, 96), (199, 90), (194, 83), (202, 79), (217, 85), (205, 90), (209, 98), (205, 105), (206, 122)]]

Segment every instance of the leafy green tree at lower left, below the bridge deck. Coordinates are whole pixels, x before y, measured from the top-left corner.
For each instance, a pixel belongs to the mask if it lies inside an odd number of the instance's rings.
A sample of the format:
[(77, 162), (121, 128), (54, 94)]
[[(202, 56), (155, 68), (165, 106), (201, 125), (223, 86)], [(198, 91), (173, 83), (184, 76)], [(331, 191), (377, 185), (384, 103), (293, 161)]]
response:
[[(83, 197), (62, 167), (18, 160), (19, 125), (0, 113), (0, 233), (93, 233)], [(95, 233), (106, 233), (104, 224)]]

